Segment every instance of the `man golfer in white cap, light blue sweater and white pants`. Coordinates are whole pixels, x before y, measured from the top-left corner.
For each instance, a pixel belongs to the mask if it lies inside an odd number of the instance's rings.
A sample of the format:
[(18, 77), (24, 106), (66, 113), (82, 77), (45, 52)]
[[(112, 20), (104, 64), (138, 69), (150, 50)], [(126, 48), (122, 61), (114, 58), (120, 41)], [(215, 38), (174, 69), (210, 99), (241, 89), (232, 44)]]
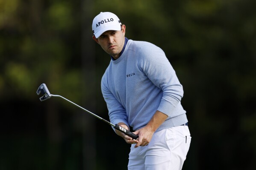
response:
[(182, 85), (162, 49), (128, 40), (125, 29), (111, 12), (92, 23), (92, 38), (111, 55), (101, 81), (110, 121), (138, 135), (115, 131), (132, 144), (128, 169), (181, 170), (191, 141)]

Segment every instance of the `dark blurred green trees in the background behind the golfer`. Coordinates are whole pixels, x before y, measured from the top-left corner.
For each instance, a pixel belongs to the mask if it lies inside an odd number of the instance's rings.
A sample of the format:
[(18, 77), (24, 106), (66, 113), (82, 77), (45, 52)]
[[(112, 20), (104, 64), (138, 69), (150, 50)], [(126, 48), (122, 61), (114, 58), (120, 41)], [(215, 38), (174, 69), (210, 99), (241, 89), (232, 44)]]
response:
[(183, 170), (256, 167), (255, 0), (0, 0), (0, 170), (125, 170), (129, 145), (45, 83), (109, 120), (110, 57), (91, 23), (113, 12), (126, 37), (165, 51), (184, 88), (191, 147)]

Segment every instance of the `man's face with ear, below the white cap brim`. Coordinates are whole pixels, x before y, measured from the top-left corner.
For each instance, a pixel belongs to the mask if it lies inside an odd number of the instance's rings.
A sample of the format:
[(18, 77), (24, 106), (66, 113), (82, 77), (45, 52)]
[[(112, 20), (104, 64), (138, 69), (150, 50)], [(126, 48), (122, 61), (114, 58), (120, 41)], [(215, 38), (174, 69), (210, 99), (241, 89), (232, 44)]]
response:
[(120, 52), (124, 47), (125, 41), (125, 25), (121, 26), (121, 31), (106, 31), (100, 37), (96, 38), (94, 35), (92, 38), (100, 44), (102, 49), (111, 55), (113, 58), (118, 59)]

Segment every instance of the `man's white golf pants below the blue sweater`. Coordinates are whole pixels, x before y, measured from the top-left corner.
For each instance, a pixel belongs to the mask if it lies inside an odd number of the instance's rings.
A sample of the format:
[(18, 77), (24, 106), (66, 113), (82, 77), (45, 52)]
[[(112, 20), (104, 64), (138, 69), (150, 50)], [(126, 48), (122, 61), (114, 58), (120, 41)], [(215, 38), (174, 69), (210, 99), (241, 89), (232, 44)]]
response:
[(181, 170), (190, 142), (188, 126), (158, 131), (147, 146), (132, 144), (128, 170)]

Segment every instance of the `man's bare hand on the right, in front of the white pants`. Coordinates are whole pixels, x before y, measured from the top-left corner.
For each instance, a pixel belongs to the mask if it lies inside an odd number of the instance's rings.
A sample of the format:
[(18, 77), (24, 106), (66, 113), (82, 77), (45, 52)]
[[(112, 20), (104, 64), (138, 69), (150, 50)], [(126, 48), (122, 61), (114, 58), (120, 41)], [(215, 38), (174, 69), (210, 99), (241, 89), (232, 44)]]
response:
[(142, 146), (142, 147), (147, 146), (149, 144), (149, 142), (151, 141), (151, 138), (152, 138), (154, 132), (155, 131), (152, 129), (152, 127), (150, 127), (148, 125), (145, 127), (142, 127), (139, 130), (136, 130), (134, 133), (136, 135), (138, 135), (138, 142), (135, 145), (135, 148), (139, 147), (139, 146)]

